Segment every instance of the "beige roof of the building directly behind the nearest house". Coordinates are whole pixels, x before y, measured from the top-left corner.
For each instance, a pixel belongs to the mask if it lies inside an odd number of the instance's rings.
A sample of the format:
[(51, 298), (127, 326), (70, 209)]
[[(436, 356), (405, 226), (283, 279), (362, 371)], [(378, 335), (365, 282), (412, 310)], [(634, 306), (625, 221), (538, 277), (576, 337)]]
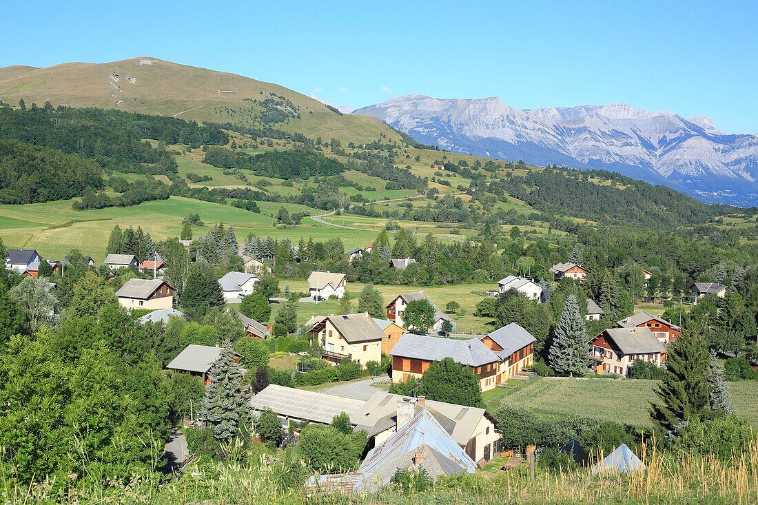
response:
[[(418, 409), (421, 409), (421, 405), (415, 398), (377, 391), (365, 401), (355, 416), (350, 416), (350, 420), (356, 423), (356, 431), (364, 429), (368, 431), (369, 436), (373, 436), (393, 428), (397, 420), (398, 400), (415, 402), (417, 412)], [(487, 416), (489, 419), (489, 414), (484, 409), (456, 405), (455, 403), (425, 400), (424, 408), (432, 413), (434, 419), (437, 419), (437, 422), (453, 437), (457, 444), (462, 445), (468, 444), (471, 437), (475, 435), (475, 430), (481, 422), (482, 416)]]

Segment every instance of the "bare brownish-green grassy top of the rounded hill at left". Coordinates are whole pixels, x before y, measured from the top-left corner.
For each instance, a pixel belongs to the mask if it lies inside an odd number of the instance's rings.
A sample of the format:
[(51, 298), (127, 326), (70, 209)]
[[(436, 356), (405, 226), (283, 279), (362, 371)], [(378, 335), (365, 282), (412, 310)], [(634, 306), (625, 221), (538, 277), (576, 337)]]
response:
[[(337, 137), (345, 142), (370, 143), (381, 133), (389, 140), (400, 140), (394, 130), (377, 119), (337, 114), (321, 102), (283, 86), (157, 58), (0, 68), (0, 99), (12, 105), (20, 99), (27, 105), (42, 105), (49, 100), (53, 105), (117, 108), (252, 126), (265, 112), (252, 101), (280, 97), (294, 106), (292, 112), (299, 118), (270, 123), (270, 127), (326, 140)], [(274, 105), (274, 109), (288, 106)]]

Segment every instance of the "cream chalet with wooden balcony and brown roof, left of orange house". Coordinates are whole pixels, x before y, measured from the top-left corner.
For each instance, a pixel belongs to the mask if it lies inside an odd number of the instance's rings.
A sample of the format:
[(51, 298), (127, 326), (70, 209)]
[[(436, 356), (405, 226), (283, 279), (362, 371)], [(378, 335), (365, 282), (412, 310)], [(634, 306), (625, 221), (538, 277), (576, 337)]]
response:
[(352, 359), (363, 366), (369, 361), (381, 362), (381, 344), (386, 336), (368, 312), (329, 315), (311, 328), (311, 334), (321, 343), (321, 356), (328, 362)]

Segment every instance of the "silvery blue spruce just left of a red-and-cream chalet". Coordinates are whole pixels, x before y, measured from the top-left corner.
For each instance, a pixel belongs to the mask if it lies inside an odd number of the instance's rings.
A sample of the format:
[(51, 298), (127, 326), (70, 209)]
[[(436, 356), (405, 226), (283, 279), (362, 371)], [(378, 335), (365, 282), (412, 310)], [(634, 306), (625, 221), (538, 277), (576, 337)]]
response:
[(550, 365), (562, 375), (584, 375), (590, 355), (587, 327), (576, 296), (566, 297), (565, 306), (548, 353)]

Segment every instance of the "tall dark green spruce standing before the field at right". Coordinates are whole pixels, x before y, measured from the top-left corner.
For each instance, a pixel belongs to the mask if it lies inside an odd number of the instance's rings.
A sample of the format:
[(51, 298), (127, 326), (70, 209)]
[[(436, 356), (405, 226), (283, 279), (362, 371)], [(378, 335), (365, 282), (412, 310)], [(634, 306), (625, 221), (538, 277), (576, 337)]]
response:
[(674, 340), (668, 351), (666, 373), (656, 387), (661, 401), (653, 403), (650, 417), (663, 433), (675, 437), (690, 419), (710, 417), (710, 359), (705, 344), (688, 333)]

